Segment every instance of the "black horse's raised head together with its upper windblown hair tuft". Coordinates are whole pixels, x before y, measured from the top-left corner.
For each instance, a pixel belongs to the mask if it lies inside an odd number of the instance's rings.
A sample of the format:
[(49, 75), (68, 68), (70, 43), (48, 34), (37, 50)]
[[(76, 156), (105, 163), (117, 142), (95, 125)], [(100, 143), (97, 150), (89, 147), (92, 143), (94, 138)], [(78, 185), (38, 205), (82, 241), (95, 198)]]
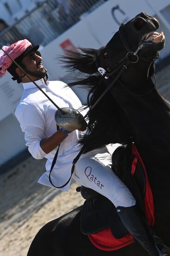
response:
[[(144, 12), (139, 13), (120, 29), (112, 39), (100, 49), (80, 48), (82, 53), (69, 52), (64, 56), (66, 67), (77, 69), (86, 74), (94, 74), (99, 67), (107, 70), (116, 67), (123, 59), (129, 58), (133, 64), (140, 61), (155, 61), (157, 52), (164, 47), (163, 32), (158, 33), (159, 22)], [(135, 53), (136, 52), (136, 53)], [(140, 61), (138, 61), (138, 55)], [(145, 63), (146, 64), (146, 63)]]

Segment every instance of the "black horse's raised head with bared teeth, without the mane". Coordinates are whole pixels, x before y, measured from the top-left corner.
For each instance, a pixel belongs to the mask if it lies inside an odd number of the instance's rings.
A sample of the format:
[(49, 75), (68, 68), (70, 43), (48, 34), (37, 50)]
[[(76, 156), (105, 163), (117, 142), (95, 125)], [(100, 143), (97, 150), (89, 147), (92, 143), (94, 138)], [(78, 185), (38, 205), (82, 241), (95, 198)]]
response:
[[(120, 29), (100, 52), (99, 63), (107, 69), (124, 58), (126, 54), (138, 51), (139, 57), (155, 60), (157, 51), (164, 47), (165, 37), (163, 32), (158, 33), (159, 22), (146, 13), (139, 13)], [(128, 56), (127, 56), (128, 57)], [(137, 58), (134, 58), (134, 62)]]

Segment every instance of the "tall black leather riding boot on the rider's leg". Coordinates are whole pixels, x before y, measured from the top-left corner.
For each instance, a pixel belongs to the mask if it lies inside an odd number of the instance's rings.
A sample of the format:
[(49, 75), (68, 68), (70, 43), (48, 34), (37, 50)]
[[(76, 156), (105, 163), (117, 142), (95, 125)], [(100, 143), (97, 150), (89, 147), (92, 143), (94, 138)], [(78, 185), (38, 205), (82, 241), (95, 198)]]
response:
[(116, 208), (116, 210), (126, 229), (142, 245), (150, 256), (163, 255), (160, 251), (158, 251), (147, 224), (142, 217), (139, 216), (136, 206), (119, 206)]

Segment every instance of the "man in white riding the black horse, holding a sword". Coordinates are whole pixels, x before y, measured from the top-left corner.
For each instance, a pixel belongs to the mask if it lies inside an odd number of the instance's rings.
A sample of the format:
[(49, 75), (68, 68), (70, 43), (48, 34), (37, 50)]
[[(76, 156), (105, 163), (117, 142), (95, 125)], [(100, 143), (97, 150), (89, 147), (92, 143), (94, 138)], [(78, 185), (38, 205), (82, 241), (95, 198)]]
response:
[[(33, 81), (57, 103), (60, 108), (79, 108), (81, 102), (70, 88), (65, 88), (61, 81), (48, 81), (42, 57), (37, 52), (38, 46), (32, 47), (28, 40), (21, 40), (4, 47), (4, 50), (15, 59), (30, 75)], [(13, 75), (13, 80), (23, 83), (24, 93), (16, 109), (15, 115), (25, 133), (25, 141), (31, 155), (36, 159), (47, 158), (46, 172), (38, 180), (39, 183), (53, 187), (49, 182), (51, 164), (60, 144), (57, 162), (53, 168), (51, 179), (56, 187), (62, 187), (69, 180), (72, 161), (79, 153), (82, 145), (78, 143), (83, 132), (57, 130), (54, 115), (56, 107), (30, 81), (19, 67), (5, 54), (0, 55), (0, 76), (6, 70)], [(82, 111), (85, 115), (86, 111)], [(83, 154), (76, 163), (74, 180), (81, 185), (94, 189), (106, 196), (117, 208), (120, 219), (126, 229), (141, 243), (151, 256), (159, 256), (153, 237), (147, 224), (138, 216), (136, 201), (125, 184), (111, 169), (112, 157), (106, 147)], [(68, 191), (70, 181), (61, 190)]]

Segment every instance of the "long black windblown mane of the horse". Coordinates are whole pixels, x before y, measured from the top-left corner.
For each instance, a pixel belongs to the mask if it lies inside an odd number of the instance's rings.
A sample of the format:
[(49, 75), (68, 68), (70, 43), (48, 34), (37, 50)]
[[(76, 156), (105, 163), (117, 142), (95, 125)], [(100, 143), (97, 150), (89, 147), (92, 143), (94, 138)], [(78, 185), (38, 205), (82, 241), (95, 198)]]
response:
[[(106, 89), (106, 85), (95, 64), (97, 50), (79, 49), (82, 52), (66, 51), (60, 61), (70, 71), (76, 69), (80, 71), (78, 78), (75, 78), (68, 86), (81, 85), (89, 88), (86, 106), (90, 108)], [(88, 75), (85, 78), (79, 78), (82, 73)], [(83, 136), (80, 140), (85, 145), (85, 151), (100, 148), (109, 143), (126, 144), (130, 141), (130, 131), (127, 127), (129, 121), (110, 92), (107, 92), (101, 101), (89, 110), (87, 121), (90, 134)]]

